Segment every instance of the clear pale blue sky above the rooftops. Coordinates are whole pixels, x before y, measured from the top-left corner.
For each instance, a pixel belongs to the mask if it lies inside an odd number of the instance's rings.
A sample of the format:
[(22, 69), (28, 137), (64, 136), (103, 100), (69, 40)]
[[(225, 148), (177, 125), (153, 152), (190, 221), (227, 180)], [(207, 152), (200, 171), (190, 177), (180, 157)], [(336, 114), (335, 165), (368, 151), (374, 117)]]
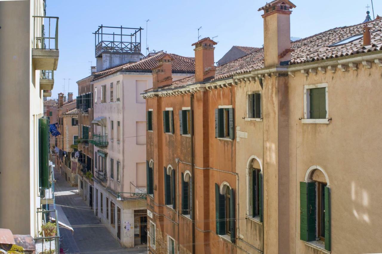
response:
[[(52, 98), (63, 92), (64, 78), (71, 79), (69, 92), (78, 93), (76, 81), (89, 76), (94, 56), (94, 32), (99, 25), (143, 27), (148, 23), (150, 50), (165, 50), (194, 56), (191, 44), (201, 38), (214, 37), (215, 61), (233, 45), (261, 47), (263, 20), (257, 9), (271, 0), (47, 0), (47, 16), (58, 16), (60, 58), (54, 74)], [(374, 0), (374, 13), (382, 14), (382, 1)], [(333, 27), (364, 21), (366, 5), (371, 0), (293, 0), (297, 8), (291, 14), (291, 36), (307, 37)], [(370, 8), (371, 11), (371, 8)], [(371, 17), (372, 12), (371, 12)], [(142, 32), (142, 53), (146, 30)], [(65, 93), (68, 92), (68, 80)]]

